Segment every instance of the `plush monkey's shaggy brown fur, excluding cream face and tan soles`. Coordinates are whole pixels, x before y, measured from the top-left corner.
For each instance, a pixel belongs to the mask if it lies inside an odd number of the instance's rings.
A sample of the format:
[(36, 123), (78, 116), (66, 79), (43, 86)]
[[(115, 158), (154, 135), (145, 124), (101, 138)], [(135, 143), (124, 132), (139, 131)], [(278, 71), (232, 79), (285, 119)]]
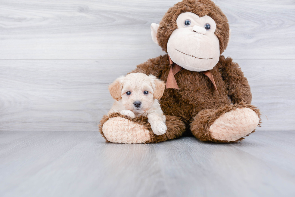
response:
[[(215, 35), (219, 38), (220, 54), (222, 54), (228, 43), (228, 20), (210, 0), (184, 0), (168, 10), (160, 22), (157, 33), (157, 40), (163, 51), (167, 52), (168, 39), (171, 33), (177, 29), (176, 19), (179, 14), (184, 12), (192, 12), (199, 17), (208, 15), (213, 18), (217, 25)], [(164, 55), (138, 65), (132, 72), (152, 74), (166, 82), (169, 69), (168, 55)], [(226, 112), (242, 107), (252, 109), (258, 116), (260, 113), (259, 109), (251, 105), (250, 86), (238, 63), (221, 55), (217, 65), (210, 71), (219, 94), (215, 91), (210, 79), (201, 72), (181, 69), (175, 75), (179, 90), (166, 89), (160, 100), (162, 110), (166, 115), (166, 134), (155, 135), (146, 117), (127, 119), (144, 125), (150, 131), (151, 140), (147, 143), (173, 139), (181, 136), (185, 131), (191, 131), (201, 141), (228, 143), (228, 141), (216, 140), (211, 137), (209, 128), (216, 119)], [(107, 119), (115, 116), (125, 117), (118, 113), (114, 113), (110, 117), (104, 116), (99, 126), (103, 136), (102, 125)], [(259, 120), (261, 123), (260, 118)], [(236, 141), (243, 139), (242, 137)]]

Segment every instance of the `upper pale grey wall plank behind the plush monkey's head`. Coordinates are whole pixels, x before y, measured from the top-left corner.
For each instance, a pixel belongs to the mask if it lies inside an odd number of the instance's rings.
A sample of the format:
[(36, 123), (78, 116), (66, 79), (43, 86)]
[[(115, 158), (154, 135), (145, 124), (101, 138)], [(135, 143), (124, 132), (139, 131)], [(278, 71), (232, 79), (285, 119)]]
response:
[[(147, 59), (164, 54), (150, 35), (178, 0), (0, 2), (0, 59)], [(294, 59), (293, 0), (216, 0), (232, 29), (235, 59)]]

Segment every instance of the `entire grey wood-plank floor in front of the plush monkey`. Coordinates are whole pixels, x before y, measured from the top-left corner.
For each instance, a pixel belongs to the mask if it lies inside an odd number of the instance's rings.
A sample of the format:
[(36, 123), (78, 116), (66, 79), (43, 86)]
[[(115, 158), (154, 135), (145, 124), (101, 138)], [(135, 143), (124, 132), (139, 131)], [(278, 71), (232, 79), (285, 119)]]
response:
[(241, 143), (105, 143), (98, 132), (2, 131), (0, 196), (295, 196), (295, 132)]

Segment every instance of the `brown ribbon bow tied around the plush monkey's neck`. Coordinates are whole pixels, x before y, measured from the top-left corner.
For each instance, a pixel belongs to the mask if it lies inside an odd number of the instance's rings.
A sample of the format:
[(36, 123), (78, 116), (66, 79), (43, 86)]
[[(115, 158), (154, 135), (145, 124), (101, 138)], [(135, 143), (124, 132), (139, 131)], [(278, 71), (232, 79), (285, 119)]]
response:
[[(175, 77), (174, 75), (179, 72), (182, 67), (177, 65), (176, 63), (172, 62), (170, 56), (168, 55), (169, 57), (169, 64), (171, 65), (170, 67), (170, 70), (169, 70), (169, 73), (168, 73), (168, 77), (167, 77), (167, 81), (166, 81), (166, 88), (174, 88), (174, 89), (177, 89), (179, 90), (179, 87), (177, 85), (177, 82), (175, 80)], [(210, 72), (209, 70), (207, 71), (203, 71), (202, 72), (204, 75), (206, 75), (210, 80), (211, 82), (213, 83), (214, 85), (214, 89), (217, 91), (218, 93), (218, 90), (217, 90), (217, 87), (216, 87), (216, 84), (215, 84), (215, 81), (214, 81), (214, 78), (213, 78), (213, 75), (212, 75), (212, 72)]]

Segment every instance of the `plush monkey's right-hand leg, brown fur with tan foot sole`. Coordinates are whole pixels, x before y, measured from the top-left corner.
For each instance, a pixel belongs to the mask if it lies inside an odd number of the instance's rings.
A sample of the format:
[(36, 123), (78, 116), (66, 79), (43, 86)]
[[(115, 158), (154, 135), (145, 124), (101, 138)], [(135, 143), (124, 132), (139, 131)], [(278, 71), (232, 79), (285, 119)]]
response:
[(204, 109), (193, 118), (191, 132), (201, 141), (237, 142), (255, 131), (259, 115), (259, 109), (245, 103)]

